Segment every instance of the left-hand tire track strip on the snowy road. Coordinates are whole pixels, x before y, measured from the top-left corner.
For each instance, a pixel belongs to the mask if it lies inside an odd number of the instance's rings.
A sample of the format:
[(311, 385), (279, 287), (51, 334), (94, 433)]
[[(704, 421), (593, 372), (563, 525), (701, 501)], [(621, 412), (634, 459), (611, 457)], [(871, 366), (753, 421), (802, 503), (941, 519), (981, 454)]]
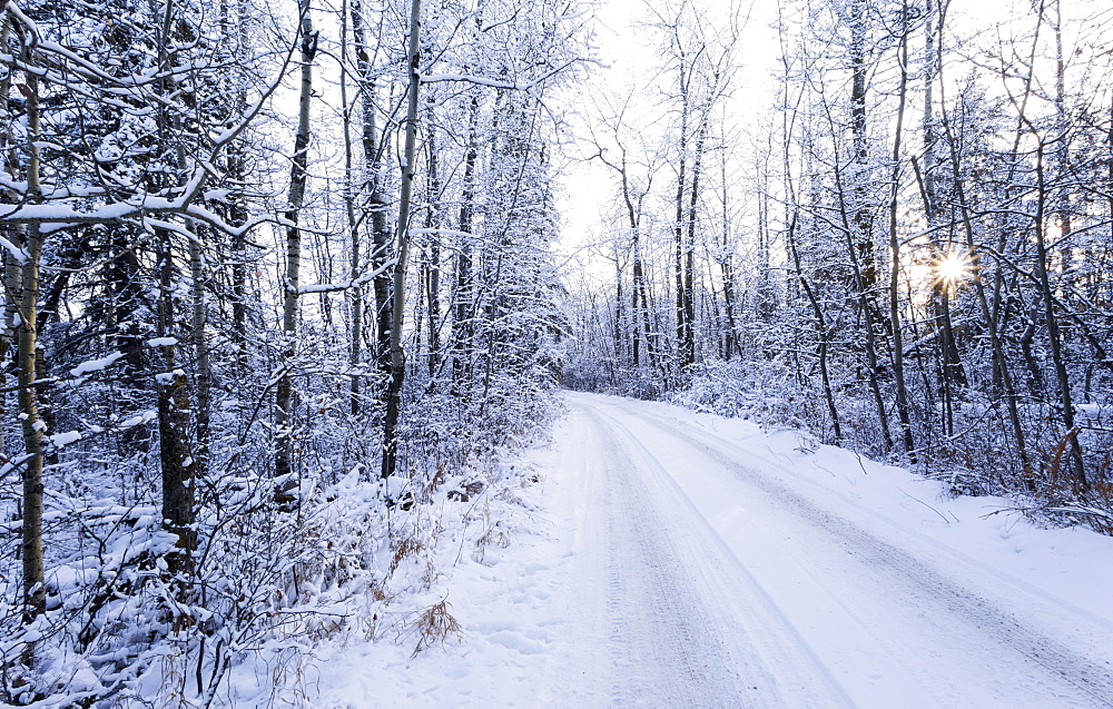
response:
[[(636, 460), (640, 449), (630, 432), (597, 410), (581, 413), (591, 422), (598, 472), (604, 476), (607, 607), (618, 670), (611, 705), (849, 705), (790, 626), (770, 623), (772, 604), (752, 580), (737, 578), (745, 570), (695, 509), (683, 515), (661, 509), (660, 495), (647, 485), (646, 462)], [(677, 529), (678, 518), (687, 529)], [(678, 542), (682, 539), (689, 543)], [(708, 593), (716, 597), (711, 603)], [(711, 605), (721, 610), (728, 594), (736, 597), (736, 612), (712, 618)], [(759, 608), (766, 612), (751, 618)], [(749, 637), (746, 628), (752, 630)], [(722, 633), (727, 629), (729, 638)], [(750, 641), (755, 637), (758, 642)]]

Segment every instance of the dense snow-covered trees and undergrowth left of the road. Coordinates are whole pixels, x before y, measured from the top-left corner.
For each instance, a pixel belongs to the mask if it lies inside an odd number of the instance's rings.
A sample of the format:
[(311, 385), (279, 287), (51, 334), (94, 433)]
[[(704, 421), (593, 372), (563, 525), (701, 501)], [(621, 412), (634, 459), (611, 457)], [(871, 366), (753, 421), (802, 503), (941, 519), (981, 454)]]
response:
[(2, 10), (0, 703), (374, 634), (549, 417), (574, 3)]

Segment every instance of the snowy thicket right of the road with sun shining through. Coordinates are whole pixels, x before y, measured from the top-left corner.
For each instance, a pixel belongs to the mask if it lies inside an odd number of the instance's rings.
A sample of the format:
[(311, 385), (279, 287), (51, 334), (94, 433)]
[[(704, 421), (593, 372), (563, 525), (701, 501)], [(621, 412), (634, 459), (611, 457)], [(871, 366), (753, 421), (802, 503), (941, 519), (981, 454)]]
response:
[[(1113, 16), (781, 3), (774, 110), (741, 131), (737, 98), (708, 114), (739, 63), (726, 24), (653, 7), (666, 98), (599, 102), (614, 277), (580, 304), (565, 382), (805, 426), (1113, 529)], [(632, 139), (638, 115), (659, 140)]]

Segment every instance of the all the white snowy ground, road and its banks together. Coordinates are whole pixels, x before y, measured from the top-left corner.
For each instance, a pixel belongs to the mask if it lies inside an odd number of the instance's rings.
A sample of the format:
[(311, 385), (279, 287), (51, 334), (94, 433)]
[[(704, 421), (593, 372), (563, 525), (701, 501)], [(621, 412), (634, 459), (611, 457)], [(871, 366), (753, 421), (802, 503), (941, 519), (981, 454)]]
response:
[(302, 670), (314, 707), (1113, 706), (1113, 539), (796, 432), (569, 394), (462, 638)]

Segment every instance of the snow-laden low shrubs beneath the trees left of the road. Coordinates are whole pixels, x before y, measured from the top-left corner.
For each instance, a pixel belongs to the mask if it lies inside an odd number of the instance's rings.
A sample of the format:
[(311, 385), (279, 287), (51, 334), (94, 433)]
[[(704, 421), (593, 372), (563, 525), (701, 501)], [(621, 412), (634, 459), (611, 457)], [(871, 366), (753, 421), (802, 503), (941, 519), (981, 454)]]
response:
[(298, 703), (325, 643), (451, 642), (451, 568), (490, 563), (510, 543), (508, 519), (524, 510), (514, 490), (532, 484), (513, 453), (556, 415), (552, 381), (500, 373), (469, 396), (414, 386), (400, 474), (387, 481), (377, 407), (353, 416), (328, 375), (306, 382), (315, 394), (299, 401), (289, 481), (260, 455), (265, 435), (244, 415), (250, 393), (218, 402), (188, 575), (167, 568), (176, 538), (162, 529), (156, 453), (98, 466), (115, 439), (77, 441), (48, 469), (48, 609), (33, 624), (20, 616), (18, 479), (8, 476), (0, 701), (220, 706), (238, 701), (229, 673), (245, 668), (269, 678), (268, 700)]

